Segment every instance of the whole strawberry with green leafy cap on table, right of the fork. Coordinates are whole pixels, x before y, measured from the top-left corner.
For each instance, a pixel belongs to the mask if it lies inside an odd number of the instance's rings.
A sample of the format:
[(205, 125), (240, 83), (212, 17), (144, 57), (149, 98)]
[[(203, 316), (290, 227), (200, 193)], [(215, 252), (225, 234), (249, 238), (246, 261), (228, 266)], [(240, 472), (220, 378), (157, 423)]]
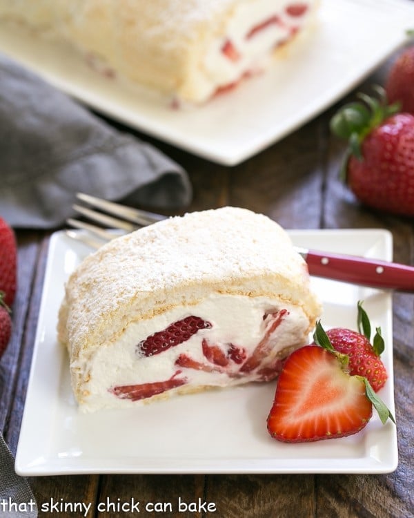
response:
[(396, 105), (360, 97), (365, 104), (348, 104), (331, 121), (333, 133), (350, 143), (344, 180), (368, 207), (413, 216), (414, 115), (393, 115)]

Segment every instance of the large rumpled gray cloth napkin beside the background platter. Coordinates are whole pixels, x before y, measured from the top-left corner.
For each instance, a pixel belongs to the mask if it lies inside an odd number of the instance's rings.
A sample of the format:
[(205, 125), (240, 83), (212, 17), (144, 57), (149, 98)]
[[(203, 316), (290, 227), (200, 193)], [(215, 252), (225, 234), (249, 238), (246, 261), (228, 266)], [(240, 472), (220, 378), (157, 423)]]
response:
[(181, 166), (0, 55), (1, 217), (58, 227), (78, 191), (153, 211), (186, 207), (192, 196)]

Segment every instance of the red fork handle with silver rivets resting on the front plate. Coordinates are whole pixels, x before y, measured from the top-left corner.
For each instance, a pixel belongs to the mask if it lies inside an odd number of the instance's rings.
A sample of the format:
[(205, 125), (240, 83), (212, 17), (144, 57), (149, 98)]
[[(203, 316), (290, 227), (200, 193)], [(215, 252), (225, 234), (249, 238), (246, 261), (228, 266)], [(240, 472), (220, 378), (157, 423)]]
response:
[(309, 274), (374, 288), (414, 292), (414, 267), (396, 262), (321, 253), (307, 250), (302, 253)]

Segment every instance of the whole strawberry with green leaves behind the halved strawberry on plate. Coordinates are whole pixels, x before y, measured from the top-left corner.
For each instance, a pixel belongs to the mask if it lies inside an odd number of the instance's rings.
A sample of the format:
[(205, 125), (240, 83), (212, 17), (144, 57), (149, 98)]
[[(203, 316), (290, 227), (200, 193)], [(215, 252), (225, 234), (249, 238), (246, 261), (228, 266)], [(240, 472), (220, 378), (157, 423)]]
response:
[[(388, 374), (386, 367), (380, 358), (384, 351), (384, 339), (381, 336), (380, 327), (376, 328), (376, 333), (371, 345), (371, 324), (362, 307), (358, 302), (358, 331), (346, 329), (344, 327), (334, 327), (324, 330), (317, 325), (315, 330), (315, 343), (323, 345), (326, 349), (333, 347), (335, 351), (348, 356), (348, 372), (352, 376), (364, 376), (375, 392), (384, 387)], [(330, 343), (326, 343), (326, 336)]]

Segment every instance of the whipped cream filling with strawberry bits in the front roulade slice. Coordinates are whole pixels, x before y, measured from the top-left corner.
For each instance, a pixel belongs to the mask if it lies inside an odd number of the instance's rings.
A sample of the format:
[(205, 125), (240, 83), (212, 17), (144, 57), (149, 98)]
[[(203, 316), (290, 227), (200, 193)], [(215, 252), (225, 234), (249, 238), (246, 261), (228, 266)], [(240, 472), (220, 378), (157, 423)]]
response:
[[(188, 316), (208, 325), (179, 345), (144, 354), (140, 343), (148, 336)], [(267, 381), (277, 375), (280, 358), (304, 344), (308, 326), (300, 307), (266, 297), (218, 294), (130, 323), (115, 342), (92, 354), (86, 350), (88, 356), (71, 364), (83, 373), (81, 410), (128, 407), (197, 387)], [(219, 359), (213, 358), (217, 352)]]

